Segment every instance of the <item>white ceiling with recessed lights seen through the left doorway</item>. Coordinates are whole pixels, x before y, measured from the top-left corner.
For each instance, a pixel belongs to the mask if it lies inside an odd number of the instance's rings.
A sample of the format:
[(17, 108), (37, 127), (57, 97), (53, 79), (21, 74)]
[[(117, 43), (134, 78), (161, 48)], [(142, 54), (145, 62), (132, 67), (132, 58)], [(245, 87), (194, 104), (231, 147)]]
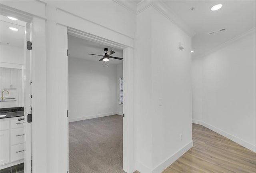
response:
[[(8, 44), (23, 48), (26, 22), (10, 20), (1, 15), (1, 44)], [(17, 28), (18, 31), (12, 31), (9, 27)]]

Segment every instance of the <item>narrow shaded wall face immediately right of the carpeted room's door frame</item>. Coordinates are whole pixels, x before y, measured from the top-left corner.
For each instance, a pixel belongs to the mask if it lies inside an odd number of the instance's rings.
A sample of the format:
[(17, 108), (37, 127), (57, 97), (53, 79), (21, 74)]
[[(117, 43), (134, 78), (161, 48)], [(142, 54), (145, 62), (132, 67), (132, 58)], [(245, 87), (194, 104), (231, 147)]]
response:
[[(150, 8), (151, 9), (151, 8)], [(151, 115), (151, 11), (137, 15), (136, 57), (134, 58), (134, 112), (136, 117), (136, 162), (141, 173), (152, 166)]]

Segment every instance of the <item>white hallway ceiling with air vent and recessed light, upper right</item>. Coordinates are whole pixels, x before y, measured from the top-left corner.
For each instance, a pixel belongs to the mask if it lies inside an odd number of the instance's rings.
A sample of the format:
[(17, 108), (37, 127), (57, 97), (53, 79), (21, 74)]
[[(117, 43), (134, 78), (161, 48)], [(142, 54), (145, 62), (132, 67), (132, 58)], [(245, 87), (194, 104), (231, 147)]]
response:
[[(178, 15), (196, 35), (192, 38), (192, 58), (208, 51), (256, 26), (256, 1), (246, 0), (168, 0), (166, 5)], [(212, 6), (222, 8), (211, 11)], [(194, 11), (190, 8), (194, 7)], [(226, 28), (225, 31), (208, 35), (209, 32)]]

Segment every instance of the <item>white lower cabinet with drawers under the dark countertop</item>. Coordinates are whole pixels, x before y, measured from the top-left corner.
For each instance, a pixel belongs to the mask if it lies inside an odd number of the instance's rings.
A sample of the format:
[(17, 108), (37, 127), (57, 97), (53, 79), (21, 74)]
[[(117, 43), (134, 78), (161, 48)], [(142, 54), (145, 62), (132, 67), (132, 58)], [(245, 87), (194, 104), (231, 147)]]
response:
[(19, 118), (23, 117), (0, 119), (1, 169), (24, 162), (24, 120)]

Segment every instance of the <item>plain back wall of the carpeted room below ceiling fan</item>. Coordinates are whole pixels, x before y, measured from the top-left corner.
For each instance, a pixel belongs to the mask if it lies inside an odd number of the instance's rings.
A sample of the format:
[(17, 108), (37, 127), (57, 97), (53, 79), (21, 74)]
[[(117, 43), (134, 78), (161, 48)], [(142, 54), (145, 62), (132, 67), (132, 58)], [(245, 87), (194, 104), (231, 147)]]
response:
[(116, 65), (69, 58), (68, 70), (70, 122), (116, 114)]

